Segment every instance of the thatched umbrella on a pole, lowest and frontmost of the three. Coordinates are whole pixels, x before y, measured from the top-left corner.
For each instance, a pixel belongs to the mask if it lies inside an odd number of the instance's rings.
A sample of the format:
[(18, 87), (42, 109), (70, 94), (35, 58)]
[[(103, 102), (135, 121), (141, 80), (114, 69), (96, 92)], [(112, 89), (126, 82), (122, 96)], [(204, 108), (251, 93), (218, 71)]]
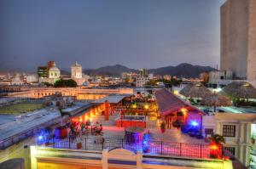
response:
[(216, 111), (216, 107), (218, 106), (230, 106), (232, 105), (230, 99), (228, 99), (225, 96), (219, 95), (217, 93), (213, 93), (206, 98), (203, 98), (201, 100), (201, 104), (203, 105), (208, 105), (208, 106), (213, 106), (214, 107), (214, 112)]

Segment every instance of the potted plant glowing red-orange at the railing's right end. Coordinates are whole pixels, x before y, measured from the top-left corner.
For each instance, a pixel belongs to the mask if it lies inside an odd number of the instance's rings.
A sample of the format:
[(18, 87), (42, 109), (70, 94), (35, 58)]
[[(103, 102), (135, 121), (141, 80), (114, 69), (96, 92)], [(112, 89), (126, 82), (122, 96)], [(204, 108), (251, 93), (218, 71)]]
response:
[(208, 140), (210, 141), (210, 157), (221, 159), (223, 156), (222, 144), (225, 143), (224, 137), (219, 134), (212, 134)]

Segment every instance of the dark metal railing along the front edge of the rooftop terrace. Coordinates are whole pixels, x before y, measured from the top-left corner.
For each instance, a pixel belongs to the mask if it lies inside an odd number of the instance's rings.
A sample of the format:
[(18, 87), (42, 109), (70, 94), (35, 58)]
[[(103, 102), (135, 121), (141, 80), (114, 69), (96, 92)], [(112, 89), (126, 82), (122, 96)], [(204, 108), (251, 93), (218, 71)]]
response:
[(210, 158), (209, 144), (177, 143), (167, 141), (149, 140), (147, 144), (143, 141), (130, 143), (125, 138), (51, 138), (45, 144), (40, 144), (55, 149), (130, 149), (135, 153), (142, 151), (143, 155), (173, 155), (190, 158)]

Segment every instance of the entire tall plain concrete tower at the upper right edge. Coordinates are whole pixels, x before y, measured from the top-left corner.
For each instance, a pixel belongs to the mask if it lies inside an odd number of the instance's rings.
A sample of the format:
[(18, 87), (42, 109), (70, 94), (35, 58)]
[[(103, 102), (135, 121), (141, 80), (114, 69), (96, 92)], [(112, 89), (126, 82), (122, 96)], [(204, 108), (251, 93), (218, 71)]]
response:
[(228, 0), (221, 7), (220, 69), (256, 85), (256, 2)]

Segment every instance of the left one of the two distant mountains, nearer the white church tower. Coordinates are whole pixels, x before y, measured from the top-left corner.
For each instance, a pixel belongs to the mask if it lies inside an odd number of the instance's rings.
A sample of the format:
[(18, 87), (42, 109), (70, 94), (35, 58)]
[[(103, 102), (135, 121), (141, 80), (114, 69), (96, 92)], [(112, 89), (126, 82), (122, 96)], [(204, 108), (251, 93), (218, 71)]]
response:
[(120, 76), (122, 72), (138, 72), (138, 70), (130, 69), (124, 65), (108, 65), (94, 70), (84, 70), (84, 73), (90, 76)]

